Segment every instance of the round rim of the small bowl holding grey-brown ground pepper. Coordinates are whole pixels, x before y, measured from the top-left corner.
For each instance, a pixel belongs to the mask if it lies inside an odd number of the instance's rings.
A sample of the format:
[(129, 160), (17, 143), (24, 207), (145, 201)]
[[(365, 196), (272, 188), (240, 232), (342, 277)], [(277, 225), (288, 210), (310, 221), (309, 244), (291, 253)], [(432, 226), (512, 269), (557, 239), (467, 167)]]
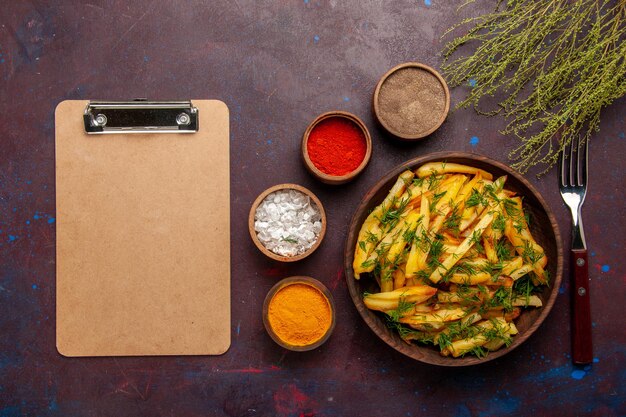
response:
[[(387, 79), (391, 75), (405, 68), (419, 68), (421, 70), (424, 70), (434, 75), (435, 78), (437, 78), (437, 80), (439, 81), (439, 83), (443, 86), (444, 96), (445, 96), (444, 110), (441, 114), (440, 119), (437, 121), (437, 123), (435, 123), (435, 125), (433, 125), (433, 127), (430, 128), (429, 130), (419, 132), (418, 134), (415, 134), (415, 135), (407, 135), (407, 134), (398, 132), (397, 130), (390, 127), (380, 116), (379, 96), (380, 96), (380, 90), (383, 84), (387, 81)], [(448, 88), (448, 83), (446, 83), (446, 80), (442, 77), (439, 71), (437, 71), (433, 67), (430, 67), (426, 64), (422, 64), (420, 62), (404, 62), (402, 64), (398, 64), (395, 67), (391, 68), (382, 77), (380, 77), (380, 80), (378, 81), (378, 83), (376, 84), (376, 88), (374, 89), (372, 104), (373, 104), (374, 116), (376, 117), (376, 120), (387, 132), (389, 132), (396, 138), (403, 140), (403, 141), (407, 141), (407, 142), (417, 141), (417, 140), (424, 139), (425, 137), (427, 137), (428, 135), (430, 135), (431, 133), (439, 129), (441, 125), (443, 124), (443, 122), (448, 117), (448, 113), (450, 112), (450, 89)]]

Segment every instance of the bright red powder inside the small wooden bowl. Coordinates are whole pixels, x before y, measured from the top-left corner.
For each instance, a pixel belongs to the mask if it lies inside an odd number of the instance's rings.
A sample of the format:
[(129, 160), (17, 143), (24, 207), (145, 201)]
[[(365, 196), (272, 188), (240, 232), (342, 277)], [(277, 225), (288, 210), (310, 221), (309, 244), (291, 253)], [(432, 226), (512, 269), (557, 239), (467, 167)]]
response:
[(365, 135), (353, 121), (329, 117), (319, 122), (307, 142), (313, 165), (324, 174), (342, 176), (351, 173), (365, 158)]

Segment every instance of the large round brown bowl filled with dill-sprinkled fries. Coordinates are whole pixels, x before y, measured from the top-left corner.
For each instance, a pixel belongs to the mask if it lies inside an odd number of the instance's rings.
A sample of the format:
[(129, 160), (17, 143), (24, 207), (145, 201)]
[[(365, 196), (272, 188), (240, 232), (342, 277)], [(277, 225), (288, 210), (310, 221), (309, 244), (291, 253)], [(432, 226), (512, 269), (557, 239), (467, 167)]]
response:
[(410, 160), (363, 198), (350, 224), (350, 296), (387, 344), (466, 366), (515, 349), (550, 312), (563, 272), (556, 220), (519, 173), (441, 152)]

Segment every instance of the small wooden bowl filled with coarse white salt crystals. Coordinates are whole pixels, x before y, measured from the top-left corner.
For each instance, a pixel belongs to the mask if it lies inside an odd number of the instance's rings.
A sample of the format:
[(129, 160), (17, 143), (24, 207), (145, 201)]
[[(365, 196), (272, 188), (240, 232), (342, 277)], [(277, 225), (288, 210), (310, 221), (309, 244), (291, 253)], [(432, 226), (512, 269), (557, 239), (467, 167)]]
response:
[(263, 191), (248, 217), (250, 237), (261, 252), (281, 262), (294, 262), (313, 253), (326, 233), (321, 201), (307, 188), (279, 184)]

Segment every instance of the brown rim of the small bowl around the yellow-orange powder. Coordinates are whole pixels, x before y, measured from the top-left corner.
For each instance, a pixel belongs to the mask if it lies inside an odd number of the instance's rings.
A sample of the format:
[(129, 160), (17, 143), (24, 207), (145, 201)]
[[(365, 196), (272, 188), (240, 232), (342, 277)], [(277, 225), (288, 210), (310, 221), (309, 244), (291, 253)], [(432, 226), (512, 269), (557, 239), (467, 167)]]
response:
[[(280, 337), (278, 337), (276, 333), (274, 333), (274, 330), (272, 329), (272, 326), (270, 325), (270, 322), (269, 322), (270, 301), (272, 300), (272, 298), (274, 298), (274, 295), (276, 295), (276, 293), (279, 290), (289, 285), (293, 285), (293, 284), (305, 284), (305, 285), (309, 285), (315, 288), (320, 293), (322, 293), (322, 295), (324, 295), (324, 297), (326, 298), (326, 301), (328, 301), (328, 306), (330, 307), (331, 318), (330, 318), (330, 326), (328, 327), (328, 330), (326, 330), (326, 333), (324, 333), (324, 335), (320, 337), (315, 343), (311, 343), (310, 345), (297, 346), (297, 345), (292, 345), (292, 344), (285, 342)], [(328, 289), (328, 287), (326, 287), (323, 283), (321, 283), (317, 279), (306, 276), (306, 275), (294, 275), (294, 276), (281, 279), (276, 284), (274, 284), (272, 288), (270, 288), (270, 290), (267, 292), (267, 295), (265, 296), (265, 300), (263, 301), (263, 325), (265, 326), (265, 330), (267, 331), (267, 334), (272, 338), (274, 342), (276, 342), (276, 344), (294, 352), (306, 352), (309, 350), (317, 349), (318, 347), (323, 345), (333, 333), (336, 322), (337, 322), (337, 318), (336, 318), (336, 313), (335, 313), (335, 301), (333, 299), (333, 295), (331, 294), (330, 290)]]

